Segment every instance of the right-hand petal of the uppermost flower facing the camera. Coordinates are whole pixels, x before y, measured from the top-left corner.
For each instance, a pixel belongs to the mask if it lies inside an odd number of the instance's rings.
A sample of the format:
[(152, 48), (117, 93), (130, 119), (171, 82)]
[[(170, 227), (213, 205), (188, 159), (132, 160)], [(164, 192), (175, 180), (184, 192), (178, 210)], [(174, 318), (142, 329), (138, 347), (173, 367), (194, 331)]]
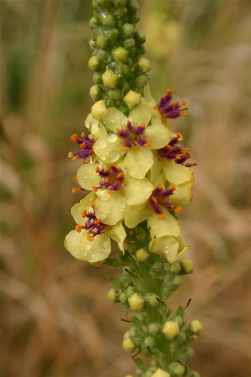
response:
[(146, 127), (145, 136), (147, 141), (151, 141), (151, 149), (163, 148), (170, 141), (169, 130), (162, 123)]

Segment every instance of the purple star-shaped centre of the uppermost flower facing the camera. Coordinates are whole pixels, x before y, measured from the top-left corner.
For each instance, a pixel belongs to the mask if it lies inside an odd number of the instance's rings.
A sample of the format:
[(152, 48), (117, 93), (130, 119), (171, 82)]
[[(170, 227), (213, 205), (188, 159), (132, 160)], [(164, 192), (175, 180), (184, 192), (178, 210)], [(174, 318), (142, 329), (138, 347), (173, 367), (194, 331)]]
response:
[(132, 146), (149, 147), (151, 145), (151, 141), (146, 141), (145, 138), (145, 126), (145, 122), (141, 126), (132, 126), (128, 120), (122, 130), (117, 128), (117, 136), (124, 140), (123, 150), (129, 150)]

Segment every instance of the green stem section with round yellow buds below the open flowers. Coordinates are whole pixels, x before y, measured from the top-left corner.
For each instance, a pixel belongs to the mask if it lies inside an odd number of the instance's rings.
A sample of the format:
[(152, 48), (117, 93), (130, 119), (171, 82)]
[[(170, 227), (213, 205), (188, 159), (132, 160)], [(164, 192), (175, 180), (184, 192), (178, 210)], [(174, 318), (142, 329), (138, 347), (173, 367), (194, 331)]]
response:
[(140, 357), (133, 359), (138, 377), (162, 375), (160, 371), (169, 377), (196, 376), (197, 372), (185, 365), (193, 357), (190, 343), (201, 334), (202, 325), (193, 320), (186, 326), (184, 308), (180, 305), (170, 316), (171, 309), (165, 302), (182, 284), (181, 275), (192, 272), (191, 261), (181, 259), (170, 264), (150, 253), (146, 221), (137, 225), (133, 234), (125, 229), (128, 250), (121, 254), (120, 262), (113, 259), (105, 262), (120, 268), (118, 278), (108, 277), (114, 287), (108, 293), (109, 299), (120, 302), (131, 313), (130, 318), (123, 319), (130, 326), (123, 349), (152, 360), (151, 367), (147, 368)]

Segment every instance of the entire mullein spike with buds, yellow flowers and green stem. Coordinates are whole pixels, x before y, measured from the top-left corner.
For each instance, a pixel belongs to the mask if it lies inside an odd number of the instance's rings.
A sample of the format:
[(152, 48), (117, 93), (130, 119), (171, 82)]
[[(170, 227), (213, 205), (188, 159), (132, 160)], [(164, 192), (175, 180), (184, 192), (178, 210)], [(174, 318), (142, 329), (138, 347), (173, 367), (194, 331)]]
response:
[[(186, 103), (174, 102), (171, 89), (159, 102), (151, 95), (150, 63), (141, 57), (146, 37), (135, 30), (137, 1), (92, 4), (88, 66), (95, 103), (85, 120), (88, 132), (71, 136), (75, 152), (68, 153), (82, 161), (72, 192), (90, 193), (71, 208), (77, 225), (65, 248), (97, 268), (118, 268), (118, 278), (106, 277), (113, 285), (108, 298), (129, 312), (122, 319), (130, 326), (123, 349), (132, 353), (137, 376), (196, 377), (187, 362), (202, 325), (197, 319), (186, 325), (185, 308), (171, 314), (166, 303), (194, 269), (190, 259), (179, 259), (189, 246), (178, 218), (192, 201), (196, 163), (188, 162), (181, 133), (167, 124), (186, 116)], [(121, 250), (119, 259), (109, 258), (111, 239)]]

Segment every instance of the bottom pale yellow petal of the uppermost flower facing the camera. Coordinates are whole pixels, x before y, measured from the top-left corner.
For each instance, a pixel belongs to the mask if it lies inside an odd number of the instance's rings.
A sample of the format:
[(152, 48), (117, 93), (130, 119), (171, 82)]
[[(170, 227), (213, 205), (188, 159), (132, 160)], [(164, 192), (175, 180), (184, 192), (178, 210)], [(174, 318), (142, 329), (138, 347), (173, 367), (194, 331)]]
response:
[(133, 178), (142, 179), (154, 163), (149, 147), (132, 147), (126, 153), (124, 164)]

